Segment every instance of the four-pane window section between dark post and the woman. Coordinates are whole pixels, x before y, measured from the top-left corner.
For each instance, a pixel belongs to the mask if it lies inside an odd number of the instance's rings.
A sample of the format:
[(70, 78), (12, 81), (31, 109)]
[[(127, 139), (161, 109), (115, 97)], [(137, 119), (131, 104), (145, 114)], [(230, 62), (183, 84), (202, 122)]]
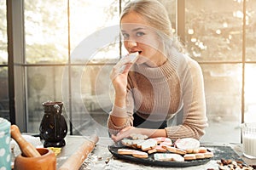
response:
[(62, 112), (72, 122), (71, 133), (88, 133), (86, 127), (97, 119), (106, 127), (112, 105), (106, 91), (108, 72), (119, 59), (119, 42), (113, 38), (119, 38), (119, 3), (24, 3), (27, 130), (38, 131), (42, 103), (48, 100), (64, 102)]

